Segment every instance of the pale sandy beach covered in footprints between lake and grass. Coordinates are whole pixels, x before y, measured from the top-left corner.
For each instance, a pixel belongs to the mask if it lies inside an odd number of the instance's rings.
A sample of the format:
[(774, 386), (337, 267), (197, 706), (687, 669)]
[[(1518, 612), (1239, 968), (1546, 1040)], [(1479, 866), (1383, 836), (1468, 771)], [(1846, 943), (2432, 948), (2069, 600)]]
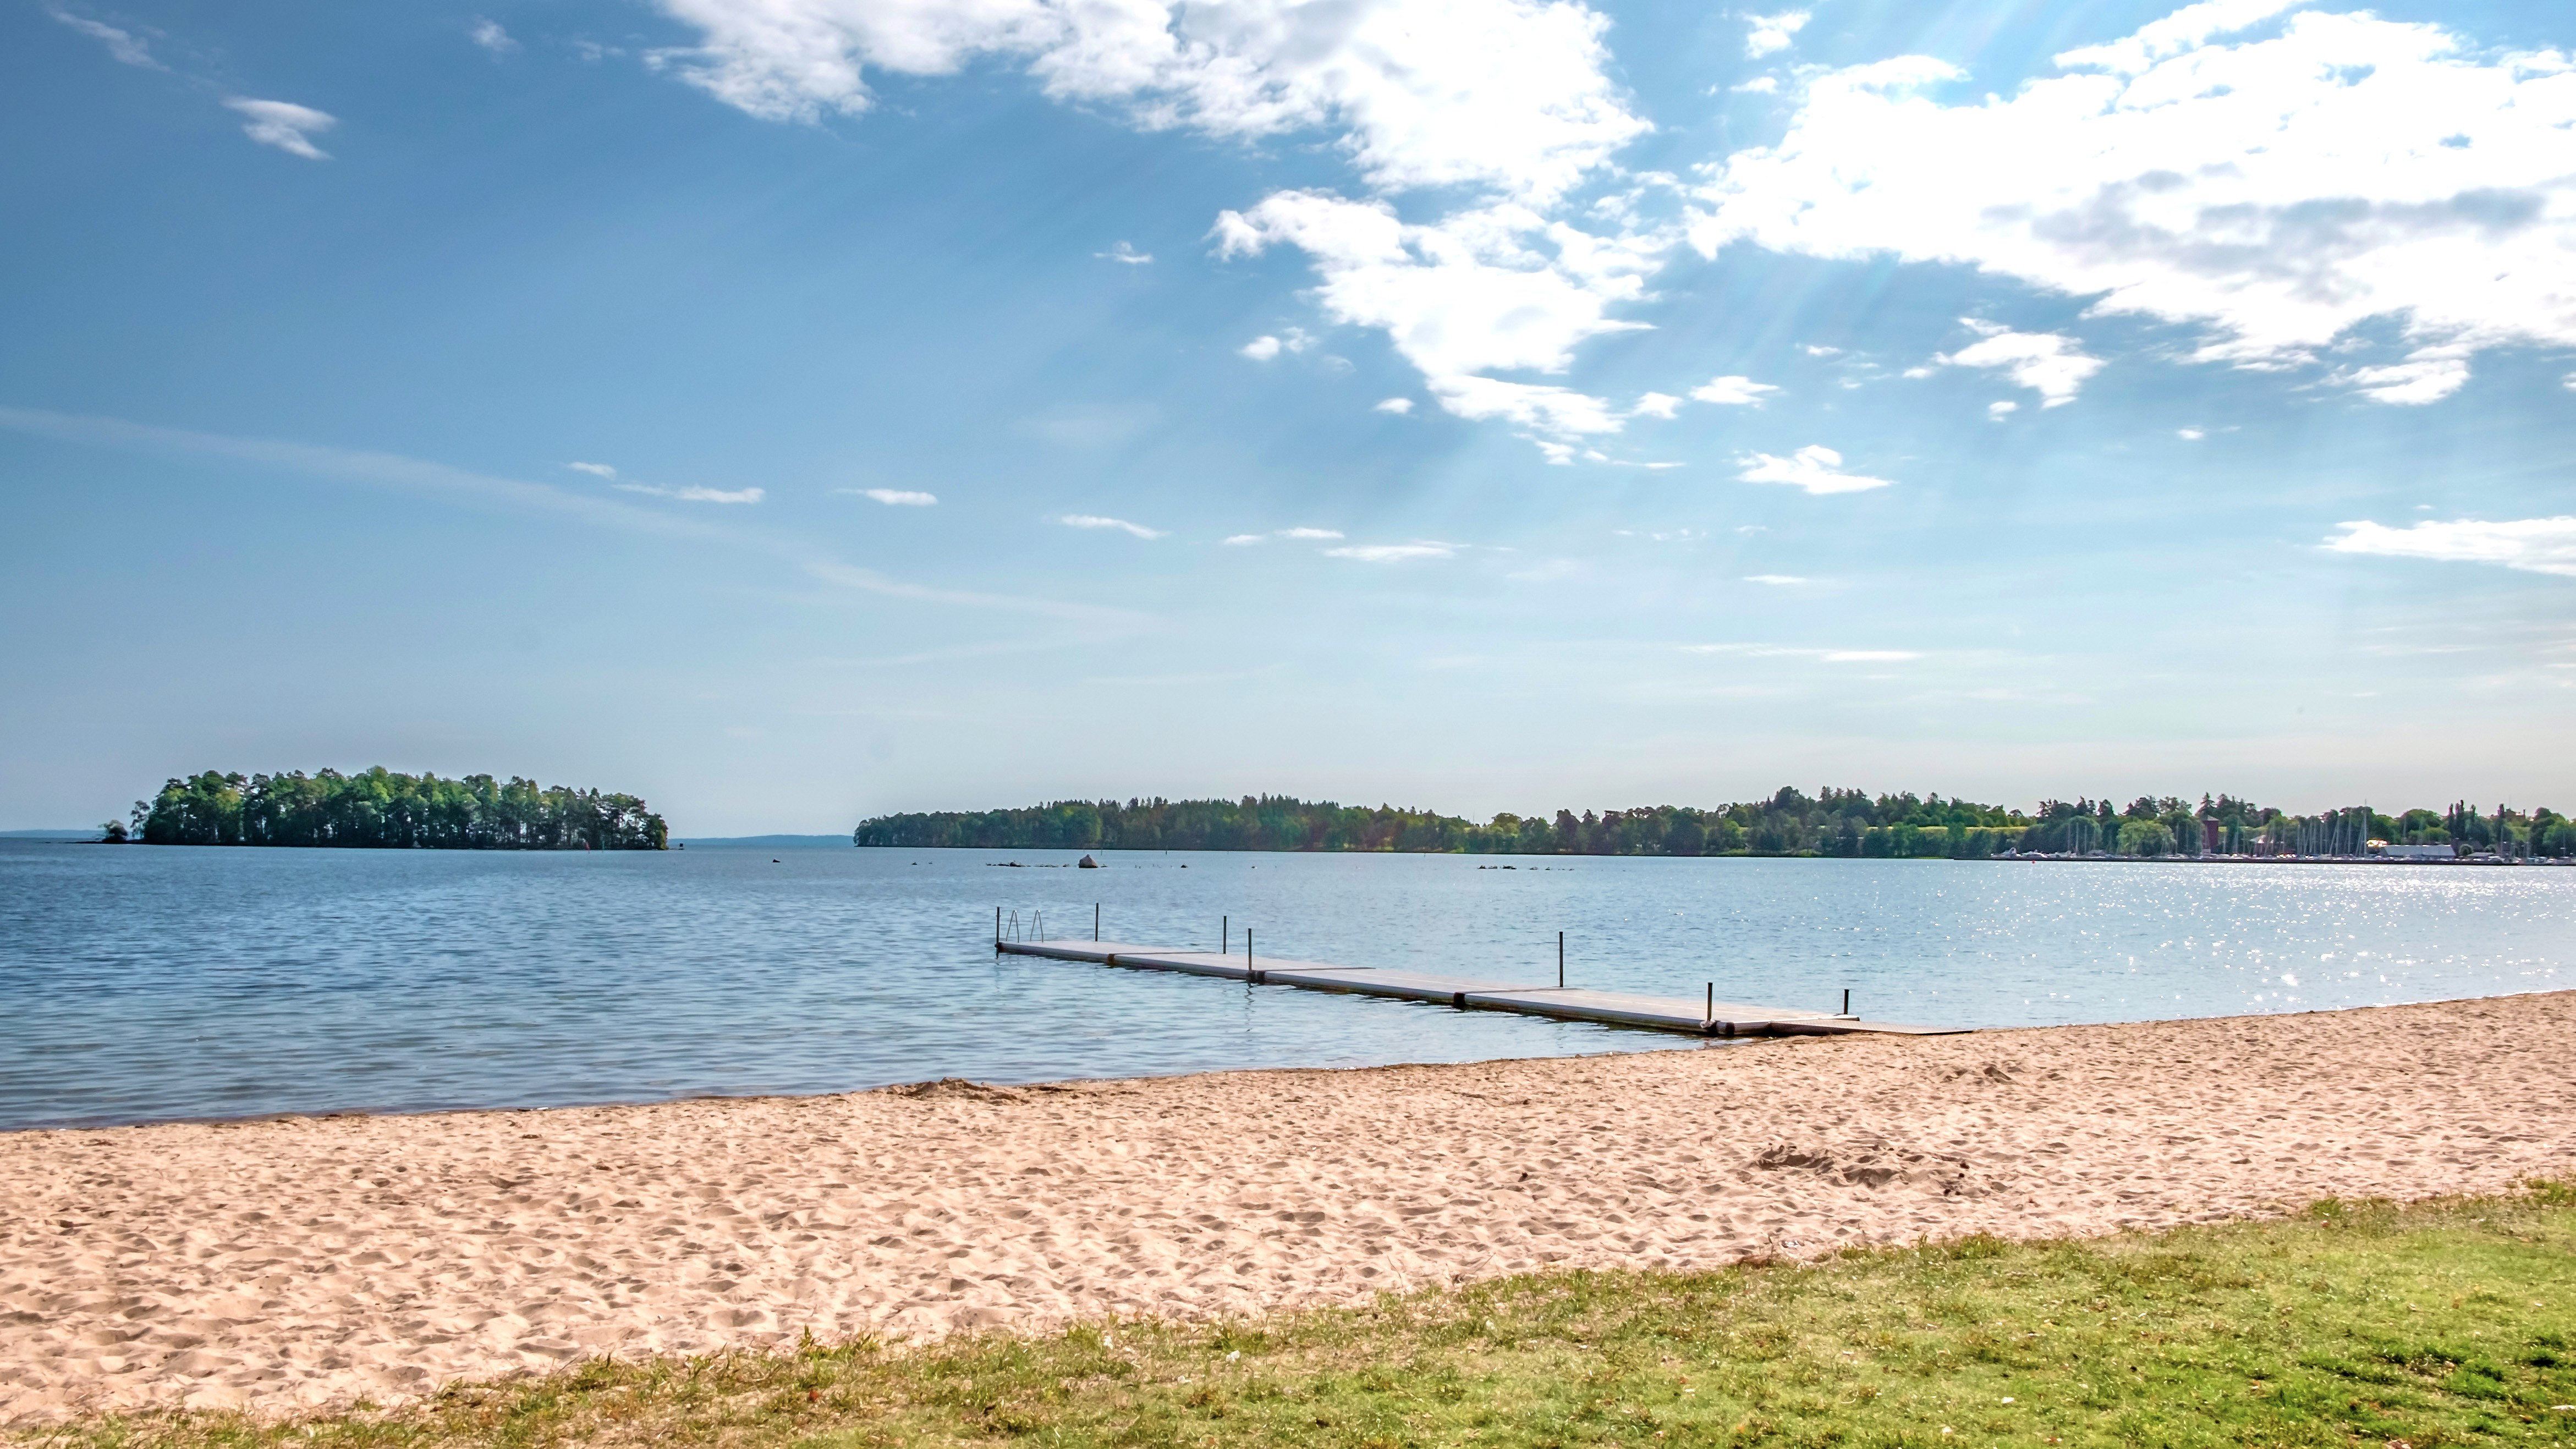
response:
[(2576, 993), (1623, 1057), (0, 1134), (0, 1423), (1257, 1312), (2576, 1171)]

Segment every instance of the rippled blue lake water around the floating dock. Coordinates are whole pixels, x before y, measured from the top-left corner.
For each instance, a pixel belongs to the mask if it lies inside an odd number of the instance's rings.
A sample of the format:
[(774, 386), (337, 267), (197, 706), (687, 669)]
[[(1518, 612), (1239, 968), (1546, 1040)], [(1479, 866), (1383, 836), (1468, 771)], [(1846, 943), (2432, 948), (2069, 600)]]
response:
[[(0, 841), (0, 1127), (1687, 1044), (992, 954), (1030, 931), (1958, 1026), (2576, 985), (2576, 869)], [(1002, 861), (1020, 861), (1007, 869)], [(1517, 869), (1486, 869), (1512, 864)], [(1236, 949), (1242, 946), (1236, 936)], [(1723, 1047), (1713, 1047), (1723, 1049)]]

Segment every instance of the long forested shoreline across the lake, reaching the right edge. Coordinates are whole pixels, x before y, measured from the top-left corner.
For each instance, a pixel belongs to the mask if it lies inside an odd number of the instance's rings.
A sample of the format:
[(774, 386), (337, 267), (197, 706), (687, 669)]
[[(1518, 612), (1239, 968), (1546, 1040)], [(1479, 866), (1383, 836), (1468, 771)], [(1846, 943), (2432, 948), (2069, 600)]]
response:
[(1638, 810), (1558, 810), (1473, 822), (1391, 804), (1242, 799), (1066, 799), (1023, 810), (881, 815), (853, 846), (987, 851), (1412, 851), (1510, 856), (2360, 856), (2370, 841), (2458, 846), (2460, 853), (2576, 856), (2576, 825), (2555, 810), (2380, 815), (2370, 807), (2295, 815), (2228, 794), (2187, 802), (2138, 797), (2043, 799), (2022, 812), (1940, 794), (1783, 786), (1770, 799)]

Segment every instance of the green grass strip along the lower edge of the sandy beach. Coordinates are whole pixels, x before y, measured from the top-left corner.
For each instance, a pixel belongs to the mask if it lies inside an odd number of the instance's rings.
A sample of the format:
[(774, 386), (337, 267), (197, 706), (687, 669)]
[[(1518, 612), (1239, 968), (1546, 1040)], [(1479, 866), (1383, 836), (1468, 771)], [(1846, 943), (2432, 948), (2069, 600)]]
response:
[(451, 1387), (80, 1446), (2576, 1444), (2576, 1191), (2074, 1243), (1535, 1274), (1249, 1323), (873, 1341)]

